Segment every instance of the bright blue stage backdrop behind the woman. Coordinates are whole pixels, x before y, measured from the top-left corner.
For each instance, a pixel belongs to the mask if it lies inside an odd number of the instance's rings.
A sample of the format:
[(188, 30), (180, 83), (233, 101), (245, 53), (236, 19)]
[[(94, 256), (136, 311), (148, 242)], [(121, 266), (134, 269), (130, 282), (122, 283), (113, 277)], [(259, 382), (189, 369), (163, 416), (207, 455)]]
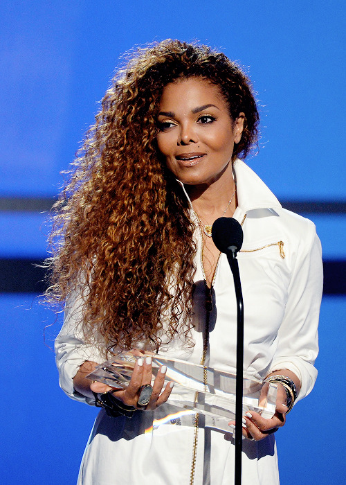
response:
[[(251, 76), (262, 138), (248, 164), (279, 199), (346, 200), (344, 1), (12, 0), (0, 19), (0, 197), (54, 197), (122, 53), (171, 37), (221, 48)], [(345, 214), (309, 218), (324, 258), (345, 260)], [(44, 258), (45, 219), (0, 211), (0, 258)], [(282, 485), (345, 480), (345, 313), (345, 296), (324, 297), (318, 382), (277, 432)], [(3, 293), (0, 319), (1, 481), (74, 484), (95, 409), (57, 385), (60, 318), (33, 293)]]

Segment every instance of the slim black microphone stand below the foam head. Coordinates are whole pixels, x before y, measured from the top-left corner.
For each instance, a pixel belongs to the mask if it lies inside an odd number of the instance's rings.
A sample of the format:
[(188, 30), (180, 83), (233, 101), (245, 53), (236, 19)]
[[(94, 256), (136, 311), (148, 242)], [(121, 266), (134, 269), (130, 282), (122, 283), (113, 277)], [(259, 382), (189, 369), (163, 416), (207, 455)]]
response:
[(242, 418), (243, 418), (243, 362), (244, 362), (244, 307), (240, 283), (237, 247), (228, 247), (227, 259), (233, 273), (237, 299), (237, 370), (235, 378), (235, 485), (242, 484)]

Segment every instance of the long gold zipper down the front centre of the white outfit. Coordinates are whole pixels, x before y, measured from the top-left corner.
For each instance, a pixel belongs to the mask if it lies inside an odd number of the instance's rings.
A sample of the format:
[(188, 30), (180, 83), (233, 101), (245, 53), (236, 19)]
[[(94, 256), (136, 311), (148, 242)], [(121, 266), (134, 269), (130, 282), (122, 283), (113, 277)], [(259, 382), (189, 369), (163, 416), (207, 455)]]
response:
[[(204, 266), (203, 266), (203, 234), (202, 234), (202, 230), (201, 230), (201, 222), (199, 220), (198, 215), (197, 215), (197, 219), (199, 221), (199, 233), (200, 233), (201, 243), (202, 243), (201, 268), (202, 268), (204, 284), (206, 285), (206, 333), (205, 333), (205, 337), (204, 337), (204, 340), (203, 340), (203, 351), (202, 351), (202, 355), (201, 355), (201, 360), (199, 362), (200, 365), (204, 366), (204, 363), (206, 362), (206, 356), (207, 356), (208, 346), (209, 346), (210, 312), (212, 312), (212, 288), (215, 285), (217, 268), (219, 267), (219, 261), (220, 261), (221, 253), (219, 254), (219, 257), (217, 258), (217, 264), (215, 266), (214, 274), (212, 275), (212, 282), (211, 282), (211, 285), (210, 285), (210, 288), (209, 288), (208, 285), (207, 285), (206, 272), (204, 271)], [(205, 366), (204, 366), (204, 369), (203, 369), (203, 384), (204, 384), (204, 390), (206, 391), (207, 386), (208, 386), (208, 381), (207, 381), (207, 368)], [(199, 395), (198, 392), (196, 392), (194, 394), (194, 404), (197, 404), (198, 395)], [(196, 418), (195, 418), (195, 421), (194, 421), (194, 441), (193, 441), (193, 446), (192, 446), (192, 463), (191, 463), (191, 472), (190, 472), (190, 485), (194, 484), (194, 472), (196, 470), (196, 460), (197, 460), (198, 431), (199, 431), (199, 413), (197, 412)]]

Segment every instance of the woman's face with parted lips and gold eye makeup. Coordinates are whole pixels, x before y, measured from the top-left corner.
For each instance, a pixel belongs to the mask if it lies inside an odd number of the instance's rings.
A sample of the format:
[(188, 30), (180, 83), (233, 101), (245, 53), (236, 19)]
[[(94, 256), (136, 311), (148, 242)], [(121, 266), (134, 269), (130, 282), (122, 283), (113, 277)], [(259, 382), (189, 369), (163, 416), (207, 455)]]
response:
[(233, 121), (221, 90), (188, 78), (165, 87), (158, 114), (158, 150), (183, 184), (211, 185), (232, 170), (244, 113)]

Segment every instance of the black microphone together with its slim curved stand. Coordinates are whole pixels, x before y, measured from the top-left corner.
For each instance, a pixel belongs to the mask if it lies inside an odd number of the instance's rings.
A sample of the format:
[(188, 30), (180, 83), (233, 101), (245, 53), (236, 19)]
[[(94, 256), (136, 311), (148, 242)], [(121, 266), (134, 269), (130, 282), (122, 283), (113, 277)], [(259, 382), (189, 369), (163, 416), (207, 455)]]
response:
[(235, 485), (242, 484), (242, 414), (244, 362), (244, 308), (237, 252), (243, 244), (243, 229), (234, 218), (219, 218), (212, 224), (212, 240), (226, 253), (235, 283), (237, 299), (237, 373), (235, 376)]

